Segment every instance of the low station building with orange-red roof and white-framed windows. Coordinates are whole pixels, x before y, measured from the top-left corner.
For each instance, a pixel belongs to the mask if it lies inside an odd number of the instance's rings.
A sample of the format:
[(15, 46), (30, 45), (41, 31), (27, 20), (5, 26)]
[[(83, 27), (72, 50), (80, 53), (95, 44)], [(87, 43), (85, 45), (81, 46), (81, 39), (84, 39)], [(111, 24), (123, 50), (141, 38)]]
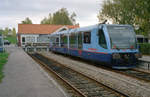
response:
[(49, 34), (78, 28), (79, 25), (18, 24), (18, 46), (31, 43), (49, 43)]

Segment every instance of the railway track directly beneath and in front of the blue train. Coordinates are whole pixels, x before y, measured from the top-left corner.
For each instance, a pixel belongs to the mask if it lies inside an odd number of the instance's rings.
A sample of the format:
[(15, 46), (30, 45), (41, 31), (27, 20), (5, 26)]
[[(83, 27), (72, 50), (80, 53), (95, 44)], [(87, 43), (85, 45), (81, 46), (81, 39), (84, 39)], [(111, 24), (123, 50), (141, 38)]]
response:
[[(138, 70), (138, 69), (113, 70), (113, 69), (111, 69), (109, 67), (105, 67), (101, 64), (93, 63), (91, 61), (85, 61), (85, 60), (82, 60), (82, 59), (77, 58), (77, 57), (71, 57), (71, 56), (67, 56), (67, 57), (70, 58), (70, 59), (76, 60), (76, 61), (80, 60), (80, 61), (82, 61), (86, 64), (96, 66), (98, 68), (102, 68), (102, 69), (109, 70), (109, 71), (112, 71), (112, 72), (120, 73), (122, 75), (131, 77), (131, 78), (135, 78), (135, 79), (145, 81), (145, 82), (150, 82), (150, 73), (144, 72), (144, 70)], [(140, 62), (139, 64), (147, 64), (148, 69), (150, 69), (150, 62), (142, 61), (142, 60), (139, 60), (139, 62)]]

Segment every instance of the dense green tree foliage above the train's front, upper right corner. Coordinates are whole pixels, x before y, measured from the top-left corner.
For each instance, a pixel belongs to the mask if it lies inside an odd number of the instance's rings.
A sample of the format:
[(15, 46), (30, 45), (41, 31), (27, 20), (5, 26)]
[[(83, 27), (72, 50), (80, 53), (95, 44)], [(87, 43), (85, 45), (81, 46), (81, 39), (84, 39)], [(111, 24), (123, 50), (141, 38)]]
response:
[(150, 0), (107, 0), (98, 15), (99, 21), (111, 19), (113, 23), (139, 26), (138, 34), (150, 32)]

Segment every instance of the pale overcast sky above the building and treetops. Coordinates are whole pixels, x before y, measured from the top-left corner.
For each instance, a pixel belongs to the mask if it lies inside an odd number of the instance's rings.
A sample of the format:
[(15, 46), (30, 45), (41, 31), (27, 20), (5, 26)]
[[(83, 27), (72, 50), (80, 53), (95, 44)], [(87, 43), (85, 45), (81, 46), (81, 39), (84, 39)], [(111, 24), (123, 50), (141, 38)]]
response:
[(80, 26), (98, 23), (97, 14), (103, 0), (0, 0), (0, 28), (15, 27), (26, 17), (34, 24), (60, 8), (75, 12)]

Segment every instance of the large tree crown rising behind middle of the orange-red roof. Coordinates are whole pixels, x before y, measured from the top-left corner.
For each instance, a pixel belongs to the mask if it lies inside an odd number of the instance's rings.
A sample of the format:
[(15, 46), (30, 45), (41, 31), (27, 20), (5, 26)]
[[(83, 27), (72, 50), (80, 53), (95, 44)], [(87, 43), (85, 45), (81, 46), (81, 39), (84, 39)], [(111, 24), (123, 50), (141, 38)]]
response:
[(72, 15), (69, 16), (67, 9), (61, 8), (52, 15), (49, 14), (47, 18), (45, 17), (41, 21), (41, 24), (73, 25), (75, 24), (75, 17), (76, 17), (75, 13), (72, 13)]

